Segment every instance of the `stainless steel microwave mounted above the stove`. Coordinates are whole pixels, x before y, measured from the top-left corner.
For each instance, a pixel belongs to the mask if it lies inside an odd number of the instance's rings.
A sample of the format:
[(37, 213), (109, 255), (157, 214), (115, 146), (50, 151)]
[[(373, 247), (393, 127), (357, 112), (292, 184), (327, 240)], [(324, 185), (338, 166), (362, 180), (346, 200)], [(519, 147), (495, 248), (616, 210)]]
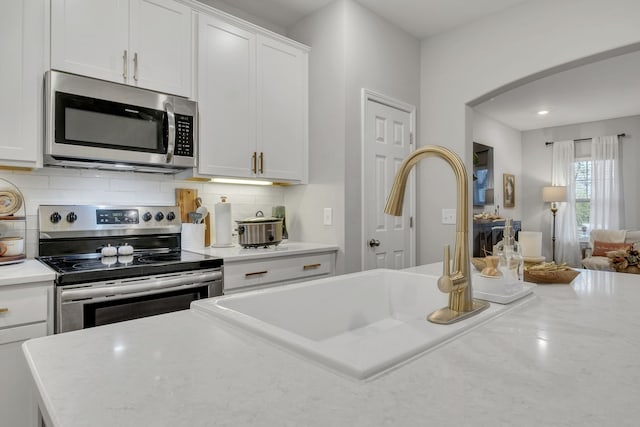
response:
[(45, 120), (45, 165), (160, 173), (197, 165), (197, 104), (185, 98), (48, 71)]

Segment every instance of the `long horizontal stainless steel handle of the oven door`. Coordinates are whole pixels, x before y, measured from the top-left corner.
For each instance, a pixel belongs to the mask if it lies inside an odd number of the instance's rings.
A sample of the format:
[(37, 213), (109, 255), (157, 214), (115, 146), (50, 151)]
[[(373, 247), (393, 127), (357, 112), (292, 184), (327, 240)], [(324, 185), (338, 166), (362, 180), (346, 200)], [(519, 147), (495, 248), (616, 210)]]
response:
[(148, 292), (154, 290), (168, 290), (167, 288), (174, 288), (184, 285), (193, 285), (192, 287), (202, 286), (204, 282), (210, 282), (214, 280), (221, 280), (222, 272), (213, 271), (202, 274), (187, 275), (176, 277), (175, 279), (160, 279), (150, 280), (143, 283), (131, 284), (131, 285), (117, 285), (117, 286), (102, 286), (102, 287), (87, 287), (87, 288), (75, 288), (75, 289), (63, 289), (60, 292), (61, 302), (75, 301), (81, 299), (99, 298), (106, 296), (115, 296), (123, 294), (133, 294), (139, 292)]

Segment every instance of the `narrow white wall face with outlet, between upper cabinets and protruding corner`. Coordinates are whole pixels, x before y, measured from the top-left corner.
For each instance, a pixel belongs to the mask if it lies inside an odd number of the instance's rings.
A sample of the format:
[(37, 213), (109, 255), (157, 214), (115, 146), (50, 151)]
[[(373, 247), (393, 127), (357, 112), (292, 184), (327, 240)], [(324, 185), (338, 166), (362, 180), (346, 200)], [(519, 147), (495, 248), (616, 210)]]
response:
[[(336, 244), (338, 273), (344, 272), (345, 230), (345, 5), (336, 1), (307, 16), (289, 36), (311, 46), (309, 54), (309, 184), (289, 188), (286, 202), (302, 222), (288, 224), (304, 241)], [(323, 208), (333, 225), (323, 225)], [(304, 225), (304, 226), (303, 226)]]

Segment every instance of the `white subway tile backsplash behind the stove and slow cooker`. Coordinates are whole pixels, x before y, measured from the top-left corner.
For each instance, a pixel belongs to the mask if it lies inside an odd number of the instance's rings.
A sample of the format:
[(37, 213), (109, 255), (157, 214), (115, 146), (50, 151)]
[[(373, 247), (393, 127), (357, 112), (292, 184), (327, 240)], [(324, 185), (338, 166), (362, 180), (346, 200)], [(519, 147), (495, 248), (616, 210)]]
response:
[(31, 172), (0, 171), (0, 178), (15, 185), (24, 196), (28, 257), (38, 255), (40, 205), (173, 205), (176, 188), (198, 190), (212, 213), (220, 197), (228, 196), (234, 220), (254, 216), (258, 210), (268, 216), (273, 206), (285, 204), (283, 187), (203, 183), (171, 175), (46, 167)]

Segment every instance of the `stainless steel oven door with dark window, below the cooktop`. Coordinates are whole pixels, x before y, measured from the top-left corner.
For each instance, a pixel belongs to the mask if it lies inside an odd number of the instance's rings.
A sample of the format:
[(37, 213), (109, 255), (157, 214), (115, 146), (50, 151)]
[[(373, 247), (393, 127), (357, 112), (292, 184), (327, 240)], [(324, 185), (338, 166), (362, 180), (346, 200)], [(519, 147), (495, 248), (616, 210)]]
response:
[(189, 308), (192, 301), (222, 295), (218, 269), (59, 286), (56, 333), (133, 320)]

